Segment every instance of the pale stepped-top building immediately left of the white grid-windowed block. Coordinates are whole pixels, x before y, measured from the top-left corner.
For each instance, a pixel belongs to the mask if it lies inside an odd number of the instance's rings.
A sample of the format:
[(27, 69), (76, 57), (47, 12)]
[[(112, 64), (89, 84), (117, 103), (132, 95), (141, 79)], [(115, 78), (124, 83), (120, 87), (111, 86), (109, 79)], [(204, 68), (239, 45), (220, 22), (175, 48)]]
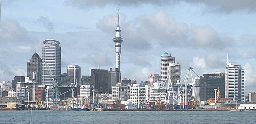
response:
[(127, 100), (127, 86), (118, 82), (115, 86), (112, 86), (112, 99), (126, 101)]

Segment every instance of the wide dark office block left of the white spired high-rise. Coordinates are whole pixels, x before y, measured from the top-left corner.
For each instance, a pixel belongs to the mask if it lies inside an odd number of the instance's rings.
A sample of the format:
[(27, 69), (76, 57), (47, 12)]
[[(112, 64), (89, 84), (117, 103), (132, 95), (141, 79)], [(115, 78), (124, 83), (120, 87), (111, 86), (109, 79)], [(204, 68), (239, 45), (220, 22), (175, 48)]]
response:
[[(215, 97), (214, 89), (219, 89), (220, 92), (223, 91), (224, 87), (224, 77), (219, 74), (204, 74), (200, 76), (200, 85), (205, 87), (200, 87), (200, 100), (207, 101), (210, 98)], [(221, 97), (223, 97), (222, 95)]]

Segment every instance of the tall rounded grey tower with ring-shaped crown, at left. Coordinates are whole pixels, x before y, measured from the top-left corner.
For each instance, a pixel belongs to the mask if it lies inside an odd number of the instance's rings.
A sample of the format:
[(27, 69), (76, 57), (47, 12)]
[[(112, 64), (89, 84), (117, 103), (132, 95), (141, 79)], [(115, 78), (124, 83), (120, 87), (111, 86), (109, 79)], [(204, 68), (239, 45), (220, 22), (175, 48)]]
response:
[(61, 47), (57, 40), (44, 40), (42, 48), (42, 85), (49, 87), (49, 97), (53, 95), (52, 77), (60, 82), (61, 77)]

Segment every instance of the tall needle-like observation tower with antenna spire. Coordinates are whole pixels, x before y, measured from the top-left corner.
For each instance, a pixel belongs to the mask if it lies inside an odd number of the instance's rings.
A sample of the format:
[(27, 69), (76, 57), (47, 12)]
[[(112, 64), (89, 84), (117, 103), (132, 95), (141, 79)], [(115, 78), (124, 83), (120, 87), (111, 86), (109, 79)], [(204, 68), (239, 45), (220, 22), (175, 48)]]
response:
[(121, 44), (123, 42), (123, 38), (121, 37), (121, 30), (119, 26), (119, 6), (117, 9), (117, 27), (116, 27), (116, 36), (114, 37), (113, 41), (115, 43), (115, 51), (116, 51), (116, 68), (120, 71), (120, 54), (121, 54)]

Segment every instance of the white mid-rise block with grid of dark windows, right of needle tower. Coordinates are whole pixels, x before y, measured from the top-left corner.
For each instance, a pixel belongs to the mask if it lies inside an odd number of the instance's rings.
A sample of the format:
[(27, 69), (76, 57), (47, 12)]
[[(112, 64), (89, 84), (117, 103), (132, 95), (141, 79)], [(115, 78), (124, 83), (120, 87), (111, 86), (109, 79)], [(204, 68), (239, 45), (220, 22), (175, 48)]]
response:
[(132, 84), (130, 87), (130, 101), (132, 104), (146, 104), (146, 88), (139, 84)]

